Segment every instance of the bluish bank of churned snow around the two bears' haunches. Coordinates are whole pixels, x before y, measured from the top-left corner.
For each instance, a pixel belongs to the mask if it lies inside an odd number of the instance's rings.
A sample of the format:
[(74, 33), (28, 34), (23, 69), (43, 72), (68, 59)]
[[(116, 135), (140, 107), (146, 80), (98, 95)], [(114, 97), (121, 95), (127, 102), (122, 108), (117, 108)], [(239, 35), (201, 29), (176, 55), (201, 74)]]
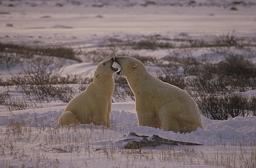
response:
[[(30, 127), (56, 127), (57, 119), (62, 110), (49, 110), (48, 112), (29, 113), (24, 110), (20, 114), (7, 114), (1, 116), (0, 125), (7, 126), (11, 122), (18, 122), (22, 126)], [(105, 130), (122, 130), (122, 132), (136, 132), (136, 134), (157, 134), (163, 138), (180, 140), (185, 142), (197, 142), (199, 144), (215, 145), (242, 145), (250, 146), (256, 142), (256, 117), (236, 117), (229, 120), (209, 120), (201, 116), (204, 129), (198, 128), (190, 133), (174, 133), (148, 126), (138, 126), (136, 114), (124, 110), (111, 112), (111, 127)], [(101, 128), (102, 126), (95, 126)]]

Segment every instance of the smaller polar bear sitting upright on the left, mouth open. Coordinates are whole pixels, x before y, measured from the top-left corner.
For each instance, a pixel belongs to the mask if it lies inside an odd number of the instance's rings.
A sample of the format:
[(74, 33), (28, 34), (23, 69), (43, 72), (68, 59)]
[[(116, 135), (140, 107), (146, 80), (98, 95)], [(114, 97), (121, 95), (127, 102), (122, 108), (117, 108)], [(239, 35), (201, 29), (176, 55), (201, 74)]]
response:
[(111, 98), (115, 88), (113, 74), (118, 71), (112, 65), (113, 58), (103, 60), (97, 65), (93, 82), (68, 103), (59, 117), (59, 125), (93, 123), (110, 126)]

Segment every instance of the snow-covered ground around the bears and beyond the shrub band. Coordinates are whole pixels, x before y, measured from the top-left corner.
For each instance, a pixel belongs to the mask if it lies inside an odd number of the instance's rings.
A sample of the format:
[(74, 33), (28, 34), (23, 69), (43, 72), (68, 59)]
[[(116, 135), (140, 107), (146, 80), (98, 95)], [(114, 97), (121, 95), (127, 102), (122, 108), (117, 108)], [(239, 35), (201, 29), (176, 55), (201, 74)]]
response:
[[(97, 48), (107, 37), (157, 34), (207, 39), (234, 32), (255, 39), (256, 5), (249, 0), (1, 1), (0, 32), (0, 42), (81, 50)], [(162, 58), (170, 50), (138, 52)], [(63, 75), (92, 77), (96, 66), (93, 62), (70, 61)], [(148, 69), (156, 73), (154, 67)], [(1, 78), (8, 77), (7, 69), (0, 71)], [(10, 72), (18, 74), (20, 68), (12, 67)], [(6, 89), (0, 87), (1, 92)], [(255, 91), (247, 93), (256, 95)], [(0, 167), (256, 167), (255, 116), (209, 120), (202, 115), (204, 129), (176, 134), (138, 126), (130, 99), (112, 104), (110, 128), (93, 124), (58, 126), (57, 118), (66, 105), (50, 102), (41, 108), (13, 112), (0, 106)], [(129, 132), (203, 146), (124, 149), (119, 139)]]

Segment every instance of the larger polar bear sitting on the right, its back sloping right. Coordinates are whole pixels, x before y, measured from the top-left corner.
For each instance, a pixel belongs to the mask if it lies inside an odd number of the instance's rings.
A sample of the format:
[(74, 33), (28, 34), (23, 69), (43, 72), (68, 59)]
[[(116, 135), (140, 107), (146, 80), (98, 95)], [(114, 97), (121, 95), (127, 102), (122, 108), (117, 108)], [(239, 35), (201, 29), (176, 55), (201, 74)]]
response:
[(203, 128), (197, 104), (186, 91), (151, 75), (140, 60), (129, 56), (114, 58), (120, 65), (135, 96), (140, 126), (174, 132), (191, 132)]

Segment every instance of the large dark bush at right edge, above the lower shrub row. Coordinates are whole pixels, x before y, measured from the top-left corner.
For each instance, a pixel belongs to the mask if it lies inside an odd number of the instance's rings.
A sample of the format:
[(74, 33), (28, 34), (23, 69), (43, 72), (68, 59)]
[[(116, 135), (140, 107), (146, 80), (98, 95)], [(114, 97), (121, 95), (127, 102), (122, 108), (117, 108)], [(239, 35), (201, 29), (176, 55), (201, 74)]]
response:
[(234, 93), (255, 89), (255, 82), (256, 65), (230, 54), (223, 61), (203, 65), (192, 83), (199, 92)]

